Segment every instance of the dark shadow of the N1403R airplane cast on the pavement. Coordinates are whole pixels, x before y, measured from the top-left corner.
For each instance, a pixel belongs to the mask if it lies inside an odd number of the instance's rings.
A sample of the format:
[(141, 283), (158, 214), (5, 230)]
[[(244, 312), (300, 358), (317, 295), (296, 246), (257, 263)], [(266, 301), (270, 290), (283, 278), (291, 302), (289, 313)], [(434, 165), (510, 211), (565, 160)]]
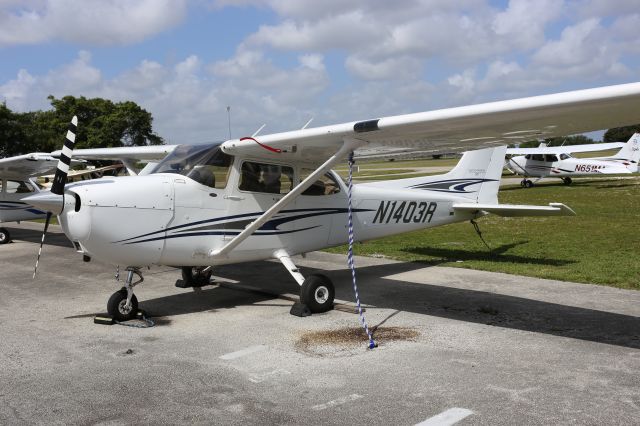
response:
[[(358, 267), (362, 302), (384, 309), (640, 348), (639, 317), (486, 291), (380, 278), (425, 267), (428, 265), (410, 262)], [(353, 300), (351, 274), (346, 268), (334, 271), (301, 269), (304, 274), (317, 272), (329, 276), (336, 286), (336, 298)], [(257, 271), (260, 277), (268, 278), (257, 280)], [(221, 266), (216, 269), (216, 275), (240, 280), (244, 285), (265, 292), (298, 293), (298, 286), (277, 262)], [(153, 315), (171, 316), (267, 300), (273, 300), (273, 297), (243, 290), (205, 287), (200, 292), (141, 301), (141, 307)], [(289, 303), (283, 302), (282, 306), (287, 308), (283, 309), (283, 315), (289, 315)]]

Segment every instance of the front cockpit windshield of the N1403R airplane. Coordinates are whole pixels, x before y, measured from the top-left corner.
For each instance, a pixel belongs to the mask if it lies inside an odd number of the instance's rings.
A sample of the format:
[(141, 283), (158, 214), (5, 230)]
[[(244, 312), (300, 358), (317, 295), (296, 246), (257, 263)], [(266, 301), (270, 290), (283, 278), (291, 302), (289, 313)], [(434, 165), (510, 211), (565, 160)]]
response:
[(224, 188), (232, 161), (233, 157), (220, 149), (220, 142), (179, 145), (151, 173), (177, 173), (202, 185)]

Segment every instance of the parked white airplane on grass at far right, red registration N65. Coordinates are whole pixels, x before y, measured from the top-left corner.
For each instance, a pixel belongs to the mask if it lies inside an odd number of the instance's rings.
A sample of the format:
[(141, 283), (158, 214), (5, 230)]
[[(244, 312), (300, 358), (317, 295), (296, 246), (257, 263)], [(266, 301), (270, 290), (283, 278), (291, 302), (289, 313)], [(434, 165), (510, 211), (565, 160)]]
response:
[[(575, 158), (571, 156), (576, 152), (595, 152), (614, 148), (620, 148), (620, 150), (610, 157)], [(544, 177), (559, 177), (569, 185), (574, 176), (636, 173), (640, 160), (640, 133), (634, 134), (627, 143), (508, 148), (507, 155), (515, 155), (506, 161), (505, 166), (513, 173), (524, 176), (520, 184), (525, 188), (533, 186), (533, 182), (527, 179), (529, 177), (537, 177), (537, 180)]]

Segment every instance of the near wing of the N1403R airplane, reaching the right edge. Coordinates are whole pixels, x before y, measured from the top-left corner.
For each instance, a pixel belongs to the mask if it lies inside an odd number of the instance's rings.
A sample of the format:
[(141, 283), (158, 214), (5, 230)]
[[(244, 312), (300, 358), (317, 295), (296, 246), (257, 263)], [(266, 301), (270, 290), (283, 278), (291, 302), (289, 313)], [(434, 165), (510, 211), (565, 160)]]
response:
[(228, 154), (320, 164), (348, 139), (452, 152), (640, 122), (640, 83), (382, 117), (226, 141)]

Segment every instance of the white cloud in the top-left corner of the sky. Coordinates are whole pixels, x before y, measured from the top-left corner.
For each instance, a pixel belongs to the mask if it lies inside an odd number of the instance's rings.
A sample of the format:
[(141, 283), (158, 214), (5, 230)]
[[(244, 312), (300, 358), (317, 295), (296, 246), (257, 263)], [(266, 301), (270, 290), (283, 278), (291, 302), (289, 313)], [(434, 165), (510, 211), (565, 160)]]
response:
[(0, 7), (0, 47), (56, 40), (111, 45), (139, 42), (177, 25), (186, 0), (32, 0)]

